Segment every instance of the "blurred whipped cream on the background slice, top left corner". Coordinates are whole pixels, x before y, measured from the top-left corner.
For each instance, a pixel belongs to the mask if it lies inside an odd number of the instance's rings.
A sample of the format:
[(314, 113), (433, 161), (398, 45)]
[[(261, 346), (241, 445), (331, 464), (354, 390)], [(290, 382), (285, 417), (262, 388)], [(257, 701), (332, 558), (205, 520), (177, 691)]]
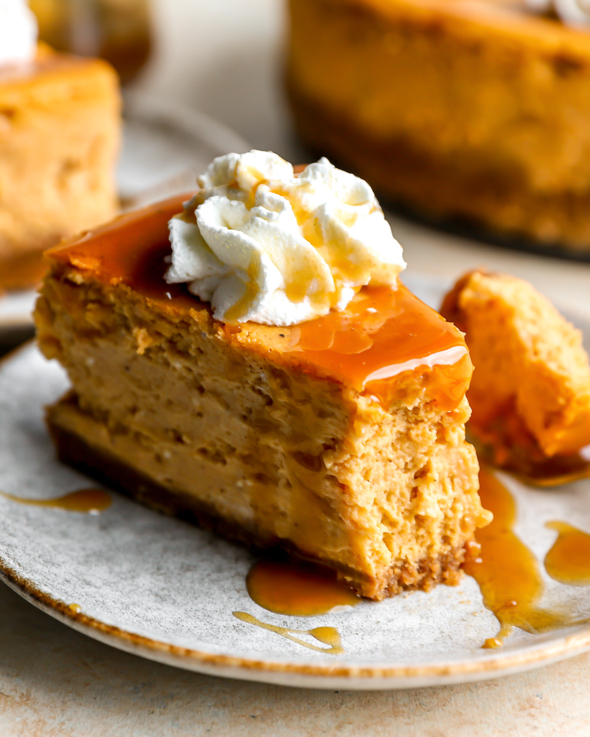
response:
[(32, 61), (37, 19), (26, 0), (0, 0), (0, 66)]

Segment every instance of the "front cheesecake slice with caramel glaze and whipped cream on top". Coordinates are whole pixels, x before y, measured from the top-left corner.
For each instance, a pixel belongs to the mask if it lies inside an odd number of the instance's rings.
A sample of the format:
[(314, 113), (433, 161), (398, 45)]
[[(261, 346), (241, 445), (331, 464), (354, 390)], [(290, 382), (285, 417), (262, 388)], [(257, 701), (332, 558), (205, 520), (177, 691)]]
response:
[[(218, 169), (236, 168), (236, 161)], [(184, 209), (182, 198), (173, 198), (46, 254), (49, 272), (35, 313), (39, 345), (72, 381), (47, 415), (60, 458), (231, 539), (323, 562), (370, 598), (454, 583), (474, 531), (490, 520), (477, 494), (476, 455), (465, 442), (472, 366), (462, 335), (396, 279), (373, 283), (400, 268), (385, 268), (385, 256), (371, 283), (348, 295), (339, 287), (342, 273), (347, 284), (353, 279), (358, 229), (355, 248), (339, 231), (350, 258), (324, 274), (340, 289), (341, 307), (323, 304), (321, 279), (310, 279), (309, 270), (290, 286), (300, 256), (316, 256), (298, 240), (291, 204), (274, 195), (299, 185), (305, 197), (317, 195), (329, 181), (340, 192), (342, 172), (324, 162), (300, 179), (291, 169), (291, 178), (277, 183), (257, 166), (250, 160), (242, 167), (241, 184), (230, 181), (231, 173), (221, 185), (201, 178)], [(353, 181), (343, 198), (362, 208), (367, 189)], [(247, 196), (232, 200), (238, 191)], [(295, 208), (302, 231), (304, 200)], [(319, 208), (310, 220), (318, 238), (321, 223), (338, 227), (327, 215), (336, 206)], [(337, 209), (339, 217), (345, 211)], [(364, 212), (356, 222), (376, 213), (370, 232), (378, 234), (382, 216), (373, 205)], [(221, 213), (234, 218), (234, 229)], [(292, 239), (288, 261), (268, 237), (277, 225), (283, 242)], [(240, 243), (238, 251), (228, 237)], [(191, 242), (197, 267), (187, 256)], [(206, 251), (209, 243), (218, 262)], [(387, 252), (399, 264), (393, 243)], [(257, 282), (229, 267), (248, 248)], [(322, 253), (335, 263), (329, 248)], [(273, 268), (284, 291), (257, 290), (275, 279)], [(246, 287), (230, 304), (240, 279)], [(213, 306), (202, 301), (206, 296)], [(298, 321), (294, 310), (319, 316)], [(277, 315), (291, 324), (261, 323)]]

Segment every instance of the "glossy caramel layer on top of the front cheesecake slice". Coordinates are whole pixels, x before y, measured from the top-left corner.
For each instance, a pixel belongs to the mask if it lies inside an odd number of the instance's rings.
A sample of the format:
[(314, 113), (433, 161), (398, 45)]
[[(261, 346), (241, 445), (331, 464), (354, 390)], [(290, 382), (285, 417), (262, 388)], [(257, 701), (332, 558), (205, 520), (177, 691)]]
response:
[[(184, 284), (167, 284), (165, 256), (171, 253), (168, 220), (190, 195), (131, 212), (77, 240), (47, 251), (49, 259), (66, 262), (117, 286), (127, 284), (148, 298), (155, 309), (186, 315), (208, 305), (190, 295)], [(465, 395), (471, 360), (459, 330), (412, 295), (403, 284), (364, 287), (347, 310), (292, 327), (254, 323), (223, 325), (226, 338), (247, 342), (253, 350), (279, 352), (281, 360), (316, 371), (381, 402), (391, 399), (400, 376), (418, 371), (431, 396), (452, 410)], [(443, 364), (428, 368), (420, 359), (441, 355)], [(450, 365), (444, 365), (450, 360)], [(413, 362), (403, 369), (406, 362)]]

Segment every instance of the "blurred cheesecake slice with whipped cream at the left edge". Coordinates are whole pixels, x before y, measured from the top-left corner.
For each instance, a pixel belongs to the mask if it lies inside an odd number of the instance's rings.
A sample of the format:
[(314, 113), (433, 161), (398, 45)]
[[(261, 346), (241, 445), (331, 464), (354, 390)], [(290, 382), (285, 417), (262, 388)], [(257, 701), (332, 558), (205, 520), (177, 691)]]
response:
[(117, 75), (36, 43), (21, 0), (0, 0), (0, 290), (30, 287), (41, 253), (117, 212)]

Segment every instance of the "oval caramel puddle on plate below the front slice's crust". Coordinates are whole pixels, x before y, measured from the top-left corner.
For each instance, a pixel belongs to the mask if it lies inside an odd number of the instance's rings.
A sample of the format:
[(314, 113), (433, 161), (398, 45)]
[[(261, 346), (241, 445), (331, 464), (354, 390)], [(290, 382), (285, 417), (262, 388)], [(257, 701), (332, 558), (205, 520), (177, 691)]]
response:
[(246, 577), (250, 598), (269, 612), (294, 617), (355, 607), (361, 598), (330, 568), (311, 563), (260, 561)]

